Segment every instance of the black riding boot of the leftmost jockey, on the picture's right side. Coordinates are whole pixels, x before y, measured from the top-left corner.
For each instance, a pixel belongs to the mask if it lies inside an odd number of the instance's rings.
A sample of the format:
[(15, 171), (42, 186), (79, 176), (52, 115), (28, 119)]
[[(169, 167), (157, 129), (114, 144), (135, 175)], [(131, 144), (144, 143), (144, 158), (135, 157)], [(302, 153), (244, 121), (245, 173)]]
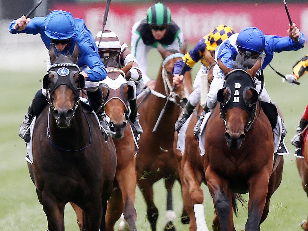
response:
[(100, 123), (100, 130), (105, 138), (105, 140), (108, 140), (108, 136), (110, 135), (111, 131), (108, 125), (108, 122), (106, 121), (106, 113), (104, 111), (104, 104), (103, 104), (103, 93), (101, 89), (98, 89), (96, 91), (87, 91), (88, 99), (91, 108), (93, 111), (95, 111), (99, 123)]

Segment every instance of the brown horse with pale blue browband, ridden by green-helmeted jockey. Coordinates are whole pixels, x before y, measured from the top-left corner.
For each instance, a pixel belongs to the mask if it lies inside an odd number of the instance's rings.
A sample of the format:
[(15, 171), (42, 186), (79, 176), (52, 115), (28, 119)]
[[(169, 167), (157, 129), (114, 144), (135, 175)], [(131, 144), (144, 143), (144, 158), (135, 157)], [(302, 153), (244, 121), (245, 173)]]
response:
[[(152, 129), (173, 87), (173, 65), (185, 53), (186, 45), (182, 46), (181, 54), (166, 51), (161, 46), (158, 47), (158, 50), (164, 62), (159, 70), (156, 86), (154, 90), (151, 90), (151, 93), (145, 94), (145, 96), (138, 99), (139, 119), (144, 133), (140, 137), (139, 152), (136, 156), (137, 184), (145, 199), (147, 217), (153, 231), (156, 230), (158, 209), (153, 201), (152, 185), (162, 178), (167, 189), (167, 212), (165, 215), (167, 217), (167, 225), (165, 230), (175, 230), (173, 221), (176, 216), (172, 208), (172, 187), (175, 180), (179, 180), (179, 176), (172, 146), (174, 124), (180, 115), (180, 107), (176, 105), (176, 97), (172, 98), (173, 102), (167, 103), (165, 113), (156, 132), (152, 132)], [(192, 92), (190, 72), (187, 72), (184, 76), (184, 85), (187, 87), (188, 94)], [(175, 93), (184, 95), (183, 85), (176, 87)], [(187, 215), (184, 209), (183, 214), (182, 216)]]

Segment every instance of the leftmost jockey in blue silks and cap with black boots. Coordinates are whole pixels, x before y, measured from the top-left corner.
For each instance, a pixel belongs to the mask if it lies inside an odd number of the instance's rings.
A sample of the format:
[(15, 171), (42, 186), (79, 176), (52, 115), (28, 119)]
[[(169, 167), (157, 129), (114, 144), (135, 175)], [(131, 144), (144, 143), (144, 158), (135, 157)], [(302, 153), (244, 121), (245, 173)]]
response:
[[(17, 25), (19, 26), (18, 30), (15, 29)], [(58, 55), (71, 55), (75, 43), (78, 43), (80, 53), (77, 64), (81, 70), (80, 74), (87, 80), (85, 87), (98, 86), (97, 82), (106, 78), (107, 72), (99, 57), (91, 32), (87, 29), (83, 19), (74, 18), (67, 11), (54, 10), (46, 17), (26, 18), (23, 15), (10, 22), (9, 32), (12, 34), (40, 34), (47, 49), (52, 44)], [(47, 64), (47, 70), (50, 65), (50, 63)], [(87, 95), (92, 109), (95, 111), (100, 109), (103, 100), (102, 91), (100, 89), (90, 90), (87, 91)], [(42, 88), (34, 96), (19, 129), (19, 136), (26, 142), (30, 141), (31, 120), (34, 115), (41, 113), (46, 104), (46, 90)], [(98, 116), (105, 130), (109, 131), (102, 110), (98, 112)]]

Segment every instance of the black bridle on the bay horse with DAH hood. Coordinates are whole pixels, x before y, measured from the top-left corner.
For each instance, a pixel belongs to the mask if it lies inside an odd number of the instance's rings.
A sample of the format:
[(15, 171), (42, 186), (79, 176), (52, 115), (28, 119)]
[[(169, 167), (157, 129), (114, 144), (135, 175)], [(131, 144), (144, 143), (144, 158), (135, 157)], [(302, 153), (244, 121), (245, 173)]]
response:
[[(229, 75), (235, 71), (238, 71), (238, 70), (241, 70), (241, 71), (244, 71), (249, 77), (250, 77), (250, 80), (251, 82), (253, 83), (253, 89), (255, 90), (256, 88), (256, 84), (254, 82), (254, 79), (251, 75), (249, 75), (249, 73), (241, 68), (236, 68), (232, 71), (230, 71), (226, 76), (225, 76), (225, 82), (227, 80), (227, 78), (229, 77)], [(225, 85), (225, 84), (224, 84)], [(224, 121), (224, 125), (225, 125), (225, 131), (228, 129), (228, 125), (227, 125), (227, 121), (226, 121), (226, 118), (225, 118), (225, 113), (226, 111), (228, 111), (229, 109), (233, 108), (233, 107), (229, 107), (229, 108), (226, 108), (227, 104), (229, 103), (230, 99), (231, 99), (231, 89), (227, 86), (224, 86), (222, 89), (220, 89), (219, 91), (223, 91), (224, 89), (227, 89), (229, 91), (229, 99), (227, 100), (226, 103), (221, 103), (220, 102), (220, 109), (219, 109), (219, 112), (220, 112), (220, 116), (221, 116), (221, 119)], [(251, 89), (251, 87), (245, 87), (245, 89), (243, 90), (243, 98), (244, 98), (244, 101), (245, 101), (245, 104), (246, 104), (246, 108), (244, 109), (245, 111), (248, 112), (248, 115), (249, 115), (249, 120), (247, 122), (247, 124), (245, 125), (244, 127), (244, 133), (246, 134), (249, 129), (252, 127), (252, 125), (254, 124), (254, 121), (255, 121), (255, 118), (256, 118), (256, 112), (257, 112), (257, 102), (255, 103), (251, 103), (251, 104), (248, 104), (245, 100), (245, 93), (247, 90)], [(260, 93), (259, 93), (260, 94)], [(259, 96), (258, 94), (258, 96)], [(259, 101), (259, 100), (257, 100)], [(242, 108), (242, 107), (241, 107)], [(259, 110), (259, 114), (260, 114), (261, 110)]]

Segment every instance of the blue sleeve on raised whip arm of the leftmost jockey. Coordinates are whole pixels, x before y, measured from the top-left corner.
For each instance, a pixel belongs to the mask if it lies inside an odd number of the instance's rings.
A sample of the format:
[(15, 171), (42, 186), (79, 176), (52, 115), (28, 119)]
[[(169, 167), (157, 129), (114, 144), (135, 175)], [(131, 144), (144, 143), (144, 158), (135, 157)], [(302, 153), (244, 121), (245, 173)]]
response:
[(9, 24), (9, 32), (11, 34), (20, 34), (20, 33), (26, 33), (26, 34), (38, 34), (45, 30), (45, 19), (46, 17), (34, 17), (31, 18), (30, 22), (26, 26), (26, 29), (17, 31), (14, 29), (14, 25), (16, 24), (16, 19), (10, 22)]

